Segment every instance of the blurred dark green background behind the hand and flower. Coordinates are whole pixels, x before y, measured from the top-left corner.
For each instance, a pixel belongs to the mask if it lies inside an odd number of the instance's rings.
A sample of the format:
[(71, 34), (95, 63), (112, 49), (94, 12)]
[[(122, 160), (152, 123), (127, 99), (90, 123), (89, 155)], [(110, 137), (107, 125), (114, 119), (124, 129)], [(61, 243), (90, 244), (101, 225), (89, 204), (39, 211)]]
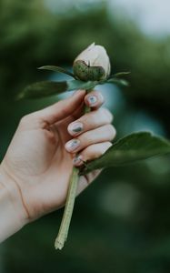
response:
[[(61, 75), (87, 45), (104, 45), (113, 72), (130, 87), (99, 86), (115, 115), (117, 138), (149, 130), (170, 138), (169, 0), (0, 0), (0, 159), (15, 128), (55, 96), (15, 101), (26, 85)], [(61, 97), (60, 97), (61, 98)], [(64, 250), (54, 241), (63, 210), (0, 246), (1, 273), (169, 273), (170, 157), (106, 169), (77, 197)]]

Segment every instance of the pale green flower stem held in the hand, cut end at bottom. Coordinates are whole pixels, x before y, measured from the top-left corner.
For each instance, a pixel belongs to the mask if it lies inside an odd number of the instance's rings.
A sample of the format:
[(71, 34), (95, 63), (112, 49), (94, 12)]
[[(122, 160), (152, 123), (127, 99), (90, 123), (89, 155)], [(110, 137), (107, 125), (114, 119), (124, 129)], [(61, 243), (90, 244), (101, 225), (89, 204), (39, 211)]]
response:
[[(89, 93), (91, 89), (86, 90), (87, 93)], [(84, 113), (90, 112), (90, 107), (85, 106)], [(78, 185), (79, 180), (79, 169), (77, 167), (73, 167), (72, 174), (69, 180), (69, 188), (68, 188), (68, 194), (66, 197), (66, 203), (65, 203), (65, 211), (64, 216), (62, 218), (61, 226), (57, 235), (57, 238), (55, 239), (55, 249), (62, 249), (65, 245), (66, 238), (68, 236), (68, 230), (70, 227), (70, 222), (74, 210), (75, 205), (75, 196), (76, 196), (76, 189)]]

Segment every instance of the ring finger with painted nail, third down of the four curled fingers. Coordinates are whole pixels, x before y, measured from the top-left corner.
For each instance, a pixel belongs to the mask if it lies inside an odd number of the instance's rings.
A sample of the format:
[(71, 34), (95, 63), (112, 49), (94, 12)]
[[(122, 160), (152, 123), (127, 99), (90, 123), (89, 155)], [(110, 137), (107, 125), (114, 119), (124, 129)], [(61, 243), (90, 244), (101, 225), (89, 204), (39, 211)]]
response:
[(111, 141), (115, 137), (115, 127), (108, 124), (100, 126), (66, 142), (65, 149), (77, 153), (90, 145)]

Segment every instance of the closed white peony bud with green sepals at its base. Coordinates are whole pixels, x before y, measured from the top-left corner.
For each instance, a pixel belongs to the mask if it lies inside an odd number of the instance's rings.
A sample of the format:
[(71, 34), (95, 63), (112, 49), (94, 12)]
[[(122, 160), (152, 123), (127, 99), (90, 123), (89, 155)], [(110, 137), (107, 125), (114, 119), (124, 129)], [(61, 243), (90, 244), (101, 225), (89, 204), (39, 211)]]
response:
[(82, 81), (104, 80), (110, 75), (110, 60), (102, 45), (89, 45), (75, 58), (74, 74)]

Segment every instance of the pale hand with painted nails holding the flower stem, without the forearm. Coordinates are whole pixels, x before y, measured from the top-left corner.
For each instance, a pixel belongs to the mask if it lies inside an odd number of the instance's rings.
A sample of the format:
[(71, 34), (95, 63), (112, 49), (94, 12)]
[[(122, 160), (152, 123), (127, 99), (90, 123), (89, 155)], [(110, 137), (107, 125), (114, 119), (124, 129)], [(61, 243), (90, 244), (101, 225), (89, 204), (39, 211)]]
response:
[[(100, 157), (115, 136), (103, 96), (76, 91), (53, 106), (24, 116), (1, 164), (5, 187), (15, 187), (26, 221), (65, 204), (73, 164)], [(84, 104), (93, 111), (82, 116)], [(78, 153), (78, 157), (75, 157)], [(80, 177), (77, 194), (100, 171)], [(8, 184), (7, 181), (10, 181)], [(13, 197), (12, 199), (16, 199)]]

